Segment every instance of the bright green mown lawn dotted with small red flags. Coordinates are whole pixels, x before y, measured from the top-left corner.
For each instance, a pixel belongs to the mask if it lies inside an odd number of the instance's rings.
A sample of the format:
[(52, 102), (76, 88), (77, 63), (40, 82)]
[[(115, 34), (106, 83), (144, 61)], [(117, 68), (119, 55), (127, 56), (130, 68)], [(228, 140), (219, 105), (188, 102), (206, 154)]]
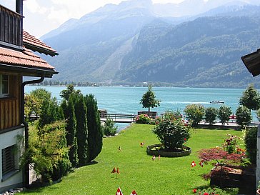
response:
[[(23, 194), (87, 194), (112, 195), (120, 186), (123, 194), (171, 195), (192, 194), (192, 189), (209, 186), (209, 181), (201, 179), (201, 174), (212, 168), (199, 166), (196, 151), (220, 146), (226, 134), (241, 136), (241, 131), (193, 129), (191, 139), (186, 143), (191, 147), (190, 156), (151, 160), (146, 154), (146, 146), (159, 144), (152, 133), (153, 126), (134, 124), (119, 136), (104, 139), (101, 154), (89, 166), (76, 169), (65, 176), (59, 184), (23, 192)], [(144, 147), (139, 144), (144, 141)], [(121, 146), (121, 151), (118, 150)], [(197, 166), (191, 168), (192, 161)], [(114, 167), (119, 167), (121, 174), (111, 174)]]

